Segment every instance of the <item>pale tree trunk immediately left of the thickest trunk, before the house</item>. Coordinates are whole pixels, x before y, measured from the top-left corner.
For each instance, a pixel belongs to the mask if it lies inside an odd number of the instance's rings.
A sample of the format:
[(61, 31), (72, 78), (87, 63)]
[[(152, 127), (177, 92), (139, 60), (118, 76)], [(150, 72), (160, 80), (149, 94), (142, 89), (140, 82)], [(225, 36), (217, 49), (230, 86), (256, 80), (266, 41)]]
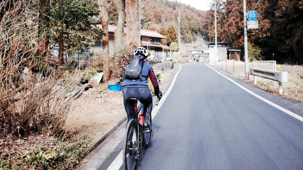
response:
[(125, 0), (117, 1), (117, 6), (119, 7), (118, 16), (118, 27), (115, 31), (115, 45), (120, 46), (123, 44), (124, 37), (124, 23), (125, 23)]

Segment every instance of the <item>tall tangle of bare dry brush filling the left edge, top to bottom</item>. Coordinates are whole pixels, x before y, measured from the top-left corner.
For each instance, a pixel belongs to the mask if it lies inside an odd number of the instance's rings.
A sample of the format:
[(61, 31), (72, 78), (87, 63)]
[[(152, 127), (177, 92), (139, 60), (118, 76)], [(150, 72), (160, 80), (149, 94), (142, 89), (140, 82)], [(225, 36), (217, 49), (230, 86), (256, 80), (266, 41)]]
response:
[[(12, 6), (9, 0), (0, 4), (0, 133), (19, 137), (32, 131), (58, 134), (70, 106), (64, 102), (67, 88), (55, 87), (60, 70), (49, 68), (46, 58), (37, 54), (39, 35), (32, 23), (38, 15), (27, 6), (24, 0)], [(32, 74), (36, 66), (44, 71), (44, 81)], [(27, 75), (25, 67), (31, 70)]]

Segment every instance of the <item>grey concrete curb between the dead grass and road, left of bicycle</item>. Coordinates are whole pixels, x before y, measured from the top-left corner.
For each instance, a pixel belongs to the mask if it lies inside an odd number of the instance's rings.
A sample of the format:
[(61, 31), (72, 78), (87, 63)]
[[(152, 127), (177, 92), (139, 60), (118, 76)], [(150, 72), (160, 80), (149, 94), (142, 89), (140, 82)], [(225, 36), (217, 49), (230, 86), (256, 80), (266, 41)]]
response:
[(125, 120), (127, 120), (127, 115), (123, 115), (120, 119), (116, 120), (111, 124), (105, 131), (97, 136), (97, 142), (94, 147), (96, 148), (101, 142), (103, 142), (108, 136), (110, 136)]

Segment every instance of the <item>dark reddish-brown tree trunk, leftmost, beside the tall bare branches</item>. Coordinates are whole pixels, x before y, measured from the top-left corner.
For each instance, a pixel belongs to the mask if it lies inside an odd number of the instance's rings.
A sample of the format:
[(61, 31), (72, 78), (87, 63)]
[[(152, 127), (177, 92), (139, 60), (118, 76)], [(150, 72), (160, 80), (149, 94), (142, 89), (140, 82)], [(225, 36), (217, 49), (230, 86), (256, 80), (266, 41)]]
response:
[(48, 50), (49, 37), (45, 34), (45, 30), (47, 29), (47, 22), (49, 21), (47, 15), (45, 15), (48, 11), (45, 10), (45, 7), (49, 6), (48, 0), (40, 0), (40, 14), (39, 14), (39, 28), (38, 33), (41, 36), (39, 40), (39, 56), (44, 56)]

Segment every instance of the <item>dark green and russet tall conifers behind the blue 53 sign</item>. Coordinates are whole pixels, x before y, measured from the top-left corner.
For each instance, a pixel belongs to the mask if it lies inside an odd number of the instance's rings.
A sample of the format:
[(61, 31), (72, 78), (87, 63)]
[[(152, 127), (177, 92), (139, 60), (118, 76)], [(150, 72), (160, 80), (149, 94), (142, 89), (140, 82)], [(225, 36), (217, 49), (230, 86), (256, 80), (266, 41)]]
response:
[[(218, 42), (244, 51), (243, 1), (217, 1)], [(215, 4), (213, 4), (215, 6)], [(247, 1), (247, 12), (258, 13), (258, 29), (248, 30), (249, 57), (258, 60), (277, 60), (286, 64), (303, 64), (303, 2), (299, 0)], [(214, 37), (215, 8), (208, 11), (209, 23), (203, 30)], [(230, 35), (230, 38), (228, 36)]]

